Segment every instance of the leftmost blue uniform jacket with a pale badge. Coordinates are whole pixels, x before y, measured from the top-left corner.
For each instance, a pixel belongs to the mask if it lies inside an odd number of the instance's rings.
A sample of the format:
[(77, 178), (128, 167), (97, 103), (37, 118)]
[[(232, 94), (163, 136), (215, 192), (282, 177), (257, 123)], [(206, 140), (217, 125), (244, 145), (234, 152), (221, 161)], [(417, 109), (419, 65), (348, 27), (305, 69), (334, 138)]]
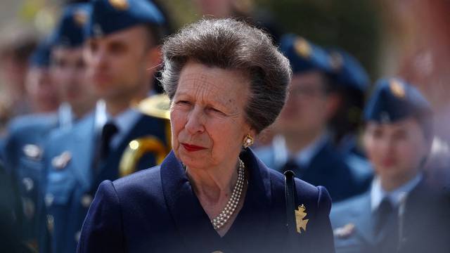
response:
[(58, 127), (58, 115), (37, 114), (13, 119), (5, 142), (5, 164), (20, 196), (15, 205), (23, 240), (36, 244), (37, 199), (43, 170), (42, 157), (46, 136)]

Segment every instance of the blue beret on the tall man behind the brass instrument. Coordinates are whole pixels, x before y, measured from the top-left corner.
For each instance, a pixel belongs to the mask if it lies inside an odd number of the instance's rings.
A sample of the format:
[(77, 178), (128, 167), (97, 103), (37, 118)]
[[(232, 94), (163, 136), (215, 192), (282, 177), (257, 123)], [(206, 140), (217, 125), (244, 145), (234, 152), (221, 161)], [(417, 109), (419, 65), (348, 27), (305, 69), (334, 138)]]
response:
[(164, 25), (160, 9), (150, 0), (94, 0), (87, 37), (103, 37), (134, 25)]

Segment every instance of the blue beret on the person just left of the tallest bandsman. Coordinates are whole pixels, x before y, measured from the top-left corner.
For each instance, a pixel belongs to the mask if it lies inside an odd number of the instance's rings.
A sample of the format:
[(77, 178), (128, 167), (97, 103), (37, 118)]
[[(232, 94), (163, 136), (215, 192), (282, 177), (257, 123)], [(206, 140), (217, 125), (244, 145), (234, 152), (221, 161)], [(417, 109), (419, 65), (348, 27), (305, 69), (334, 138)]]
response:
[(69, 4), (52, 34), (55, 46), (75, 48), (84, 43), (84, 30), (91, 12), (91, 4)]

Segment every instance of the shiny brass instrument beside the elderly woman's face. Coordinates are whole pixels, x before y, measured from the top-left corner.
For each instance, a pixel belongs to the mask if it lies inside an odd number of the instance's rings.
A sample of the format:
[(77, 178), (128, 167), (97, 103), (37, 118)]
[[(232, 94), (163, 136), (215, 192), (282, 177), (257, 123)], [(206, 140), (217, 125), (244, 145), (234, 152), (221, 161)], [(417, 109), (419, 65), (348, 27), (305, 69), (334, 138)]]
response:
[(119, 174), (120, 177), (127, 176), (134, 171), (136, 171), (136, 166), (139, 160), (146, 153), (153, 153), (156, 158), (156, 162), (161, 164), (166, 155), (172, 149), (171, 143), (171, 132), (170, 132), (170, 100), (164, 94), (150, 96), (142, 100), (136, 109), (145, 115), (151, 117), (157, 117), (160, 119), (165, 119), (165, 134), (166, 142), (165, 145), (159, 138), (155, 136), (143, 136), (130, 141), (126, 150), (122, 155), (122, 159), (119, 164)]

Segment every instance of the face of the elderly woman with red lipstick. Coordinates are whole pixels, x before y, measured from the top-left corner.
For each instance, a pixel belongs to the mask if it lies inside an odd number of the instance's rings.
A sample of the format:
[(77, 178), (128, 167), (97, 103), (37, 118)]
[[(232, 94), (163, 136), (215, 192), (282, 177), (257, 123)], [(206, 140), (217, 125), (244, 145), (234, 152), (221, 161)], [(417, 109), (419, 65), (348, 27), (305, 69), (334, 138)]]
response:
[(170, 119), (172, 148), (189, 168), (236, 164), (243, 139), (250, 79), (238, 70), (188, 62), (181, 71)]

